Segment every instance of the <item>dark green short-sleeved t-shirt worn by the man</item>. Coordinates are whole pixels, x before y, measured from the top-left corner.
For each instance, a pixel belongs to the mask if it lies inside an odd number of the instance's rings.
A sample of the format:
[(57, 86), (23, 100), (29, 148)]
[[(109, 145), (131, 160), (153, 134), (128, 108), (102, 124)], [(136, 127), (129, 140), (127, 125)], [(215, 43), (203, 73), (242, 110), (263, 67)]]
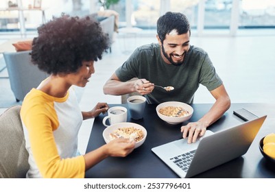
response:
[(145, 95), (149, 104), (165, 101), (191, 104), (200, 84), (212, 91), (222, 85), (222, 80), (203, 49), (191, 46), (184, 57), (184, 63), (180, 66), (167, 64), (160, 55), (160, 45), (143, 45), (137, 48), (115, 73), (121, 82), (138, 77), (156, 85), (174, 86), (174, 91), (155, 87), (151, 94)]

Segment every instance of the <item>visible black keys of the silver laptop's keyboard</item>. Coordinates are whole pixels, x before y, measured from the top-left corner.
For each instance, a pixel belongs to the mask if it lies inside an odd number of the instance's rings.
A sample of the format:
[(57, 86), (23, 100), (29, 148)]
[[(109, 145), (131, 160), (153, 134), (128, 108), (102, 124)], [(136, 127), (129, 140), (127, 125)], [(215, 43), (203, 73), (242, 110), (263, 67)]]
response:
[(170, 158), (178, 167), (187, 172), (194, 157), (195, 150)]

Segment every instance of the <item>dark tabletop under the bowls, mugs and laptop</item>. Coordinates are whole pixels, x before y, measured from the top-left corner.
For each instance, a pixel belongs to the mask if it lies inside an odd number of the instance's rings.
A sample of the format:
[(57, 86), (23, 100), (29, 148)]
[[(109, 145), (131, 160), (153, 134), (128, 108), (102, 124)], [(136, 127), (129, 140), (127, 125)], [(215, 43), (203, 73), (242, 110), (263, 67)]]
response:
[[(115, 104), (111, 106), (125, 106)], [(212, 104), (193, 104), (194, 113), (189, 121), (198, 121), (212, 106)], [(263, 136), (275, 132), (275, 104), (232, 104), (230, 109), (208, 129), (217, 132), (218, 130), (230, 128), (233, 125), (243, 123), (243, 120), (233, 115), (233, 110), (246, 108), (257, 116), (267, 115), (267, 119), (259, 130), (248, 152), (235, 160), (220, 165), (211, 170), (200, 173), (195, 178), (275, 178), (275, 165), (263, 158), (259, 150), (259, 141)], [(104, 145), (102, 132), (104, 125), (102, 119), (106, 115), (100, 115), (93, 123), (93, 129), (86, 152)], [(141, 147), (125, 158), (109, 157), (101, 161), (95, 167), (86, 171), (86, 178), (178, 178), (162, 160), (152, 151), (152, 147), (181, 139), (181, 125), (170, 125), (161, 120), (156, 114), (156, 105), (145, 106), (144, 118), (141, 120), (130, 119), (128, 121), (139, 123), (147, 129), (147, 139)], [(218, 157), (217, 157), (218, 158)]]

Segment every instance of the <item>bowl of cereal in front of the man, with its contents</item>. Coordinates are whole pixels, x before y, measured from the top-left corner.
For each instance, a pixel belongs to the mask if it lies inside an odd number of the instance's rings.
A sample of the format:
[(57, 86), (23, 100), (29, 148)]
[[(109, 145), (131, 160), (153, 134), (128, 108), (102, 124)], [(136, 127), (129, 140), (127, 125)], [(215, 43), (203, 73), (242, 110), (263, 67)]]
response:
[(156, 113), (160, 119), (170, 124), (178, 124), (190, 119), (193, 108), (179, 101), (167, 101), (156, 106)]

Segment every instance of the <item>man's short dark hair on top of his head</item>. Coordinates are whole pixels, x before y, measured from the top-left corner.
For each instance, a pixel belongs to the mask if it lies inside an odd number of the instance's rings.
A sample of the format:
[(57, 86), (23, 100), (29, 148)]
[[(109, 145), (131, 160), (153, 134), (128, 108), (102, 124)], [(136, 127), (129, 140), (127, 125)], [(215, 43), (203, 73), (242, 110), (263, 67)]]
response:
[(180, 12), (167, 12), (157, 21), (156, 30), (160, 41), (163, 43), (166, 34), (176, 30), (179, 35), (190, 33), (190, 25), (187, 16)]

